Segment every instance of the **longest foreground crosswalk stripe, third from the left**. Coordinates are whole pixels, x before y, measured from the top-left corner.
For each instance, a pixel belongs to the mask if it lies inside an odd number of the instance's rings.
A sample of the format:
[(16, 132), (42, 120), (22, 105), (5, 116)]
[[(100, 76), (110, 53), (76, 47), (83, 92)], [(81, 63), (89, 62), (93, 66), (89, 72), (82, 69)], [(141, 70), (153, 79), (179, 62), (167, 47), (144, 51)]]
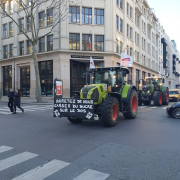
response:
[(43, 165), (42, 167), (39, 166), (35, 169), (32, 169), (12, 180), (42, 180), (46, 177), (52, 175), (53, 173), (63, 169), (64, 167), (68, 166), (70, 163), (59, 161), (59, 160), (52, 160), (47, 164)]

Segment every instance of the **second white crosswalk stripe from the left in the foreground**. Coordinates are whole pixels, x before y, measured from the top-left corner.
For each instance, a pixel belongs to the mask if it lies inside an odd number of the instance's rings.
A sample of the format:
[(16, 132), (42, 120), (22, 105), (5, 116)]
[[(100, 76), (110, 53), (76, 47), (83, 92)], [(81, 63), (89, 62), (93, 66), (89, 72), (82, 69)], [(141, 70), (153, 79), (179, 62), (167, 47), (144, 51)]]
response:
[(5, 169), (15, 166), (19, 163), (22, 163), (24, 161), (32, 159), (36, 156), (38, 156), (38, 155), (34, 154), (34, 153), (23, 152), (23, 153), (15, 155), (15, 156), (9, 157), (7, 159), (1, 160), (0, 161), (0, 171), (3, 171)]

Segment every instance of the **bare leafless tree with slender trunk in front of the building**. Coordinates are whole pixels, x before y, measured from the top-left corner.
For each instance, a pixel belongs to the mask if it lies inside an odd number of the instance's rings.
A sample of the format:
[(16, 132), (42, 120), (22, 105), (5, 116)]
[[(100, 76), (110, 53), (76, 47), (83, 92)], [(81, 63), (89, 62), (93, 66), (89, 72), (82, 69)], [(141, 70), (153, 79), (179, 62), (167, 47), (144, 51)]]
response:
[[(35, 76), (36, 76), (36, 94), (37, 102), (42, 102), (41, 85), (38, 69), (38, 53), (36, 50), (40, 38), (51, 34), (54, 28), (62, 21), (64, 21), (69, 14), (69, 4), (76, 6), (79, 4), (78, 0), (13, 0), (13, 13), (16, 13), (18, 19), (25, 15), (29, 23), (30, 32), (24, 29), (21, 24), (14, 18), (12, 13), (9, 13), (5, 4), (5, 0), (0, 0), (1, 13), (9, 17), (18, 27), (19, 31), (24, 34), (32, 46), (32, 57), (34, 60)], [(12, 5), (11, 5), (12, 6)], [(41, 17), (38, 19), (38, 12), (40, 9), (46, 9)], [(12, 11), (12, 10), (11, 10)], [(23, 13), (22, 13), (23, 11)], [(44, 27), (45, 18), (50, 21), (50, 29), (44, 34), (40, 33), (40, 29)], [(37, 19), (39, 23), (37, 23)], [(60, 30), (59, 30), (60, 31)]]

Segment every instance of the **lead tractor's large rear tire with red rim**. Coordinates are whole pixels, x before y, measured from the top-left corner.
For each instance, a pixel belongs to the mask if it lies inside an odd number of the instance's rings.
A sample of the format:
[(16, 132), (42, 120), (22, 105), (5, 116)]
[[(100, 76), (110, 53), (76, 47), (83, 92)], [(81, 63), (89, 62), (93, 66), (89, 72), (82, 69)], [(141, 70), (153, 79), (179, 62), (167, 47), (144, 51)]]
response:
[(123, 113), (126, 119), (134, 119), (138, 110), (138, 96), (136, 90), (132, 90), (129, 101), (125, 104), (126, 113)]

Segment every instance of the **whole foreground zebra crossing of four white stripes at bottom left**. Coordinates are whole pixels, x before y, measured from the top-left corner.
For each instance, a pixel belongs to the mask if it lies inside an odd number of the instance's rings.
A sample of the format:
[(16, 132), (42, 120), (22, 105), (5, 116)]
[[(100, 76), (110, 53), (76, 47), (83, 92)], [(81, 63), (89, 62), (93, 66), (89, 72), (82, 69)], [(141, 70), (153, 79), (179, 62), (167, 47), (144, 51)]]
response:
[[(15, 155), (10, 155), (10, 157), (5, 157), (5, 159), (2, 159), (3, 153), (7, 153), (8, 151), (12, 151), (13, 148), (9, 146), (0, 146), (0, 179), (1, 175), (4, 171), (10, 172), (7, 173), (7, 175), (11, 172), (11, 168), (15, 168), (18, 165), (21, 165), (23, 168), (23, 163), (32, 160), (33, 158), (37, 158), (39, 155), (35, 153), (30, 152), (22, 152)], [(71, 163), (60, 161), (60, 160), (51, 160), (46, 161), (44, 164), (40, 164), (39, 166), (31, 169), (29, 168), (26, 172), (22, 174), (16, 174), (14, 175), (12, 180), (43, 180), (46, 178), (51, 179), (51, 175), (54, 175), (58, 171), (67, 168), (70, 166)], [(2, 173), (2, 174), (1, 174)], [(72, 180), (105, 180), (110, 175), (107, 173), (99, 172), (93, 169), (87, 169), (83, 170), (83, 172), (79, 175), (77, 173), (72, 177)], [(6, 177), (9, 179), (9, 177)], [(70, 179), (70, 180), (71, 180)]]

